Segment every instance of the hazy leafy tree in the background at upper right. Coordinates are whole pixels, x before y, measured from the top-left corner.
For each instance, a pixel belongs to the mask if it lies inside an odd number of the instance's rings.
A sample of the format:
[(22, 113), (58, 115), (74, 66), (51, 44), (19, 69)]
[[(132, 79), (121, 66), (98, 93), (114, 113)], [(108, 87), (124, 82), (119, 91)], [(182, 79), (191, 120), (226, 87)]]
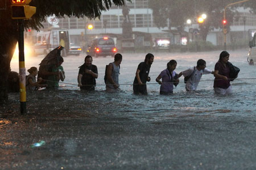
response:
[[(249, 3), (250, 2), (250, 3)], [(253, 7), (256, 11), (255, 0), (247, 2), (247, 6)], [(222, 19), (224, 7), (229, 3), (234, 3), (232, 0), (149, 0), (149, 6), (152, 8), (154, 22), (160, 27), (167, 26), (167, 20), (170, 20), (170, 26), (179, 28), (183, 31), (187, 19), (196, 19), (199, 15), (207, 14), (207, 19), (204, 23), (199, 24), (200, 34), (204, 41), (207, 39), (208, 32), (214, 28), (222, 28)], [(240, 6), (243, 3), (239, 4)], [(238, 5), (237, 5), (238, 6)], [(231, 6), (226, 10), (226, 19), (229, 24), (233, 22), (233, 16), (236, 14), (234, 10), (237, 6)], [(178, 30), (179, 30), (178, 29)]]

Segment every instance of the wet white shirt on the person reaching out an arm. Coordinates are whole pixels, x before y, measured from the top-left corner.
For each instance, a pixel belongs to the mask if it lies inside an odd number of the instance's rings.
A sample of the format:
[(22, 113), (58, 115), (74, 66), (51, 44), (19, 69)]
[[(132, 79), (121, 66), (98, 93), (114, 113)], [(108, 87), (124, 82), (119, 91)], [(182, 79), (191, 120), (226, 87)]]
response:
[[(196, 67), (195, 67), (196, 69)], [(183, 76), (189, 76), (193, 73), (194, 71), (194, 67), (189, 68), (188, 70), (182, 71)], [(195, 70), (195, 73), (193, 75), (191, 75), (191, 77), (188, 79), (188, 82), (186, 83), (186, 90), (187, 91), (194, 91), (196, 90), (200, 79), (202, 77), (203, 74), (210, 74), (212, 73), (212, 70), (209, 70), (207, 68), (205, 68), (204, 70)]]

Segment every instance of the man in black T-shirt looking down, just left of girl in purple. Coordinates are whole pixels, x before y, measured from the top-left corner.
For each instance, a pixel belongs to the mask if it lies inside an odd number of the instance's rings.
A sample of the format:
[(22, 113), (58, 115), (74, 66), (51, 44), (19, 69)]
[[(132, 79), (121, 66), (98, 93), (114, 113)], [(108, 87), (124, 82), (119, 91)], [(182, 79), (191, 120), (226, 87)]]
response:
[(133, 82), (133, 93), (135, 95), (147, 95), (146, 82), (150, 82), (151, 80), (148, 74), (150, 72), (150, 67), (153, 62), (154, 55), (148, 53), (144, 59), (144, 62), (139, 63)]

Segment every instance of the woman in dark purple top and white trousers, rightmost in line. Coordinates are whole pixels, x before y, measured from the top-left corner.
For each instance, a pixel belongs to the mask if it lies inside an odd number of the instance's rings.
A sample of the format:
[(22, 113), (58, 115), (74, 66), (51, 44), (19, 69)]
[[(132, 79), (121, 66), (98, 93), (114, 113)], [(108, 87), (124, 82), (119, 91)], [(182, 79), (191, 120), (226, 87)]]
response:
[(214, 67), (214, 92), (220, 95), (232, 94), (232, 86), (230, 85), (229, 72), (230, 69), (227, 65), (229, 61), (229, 53), (223, 51), (220, 53), (220, 59)]

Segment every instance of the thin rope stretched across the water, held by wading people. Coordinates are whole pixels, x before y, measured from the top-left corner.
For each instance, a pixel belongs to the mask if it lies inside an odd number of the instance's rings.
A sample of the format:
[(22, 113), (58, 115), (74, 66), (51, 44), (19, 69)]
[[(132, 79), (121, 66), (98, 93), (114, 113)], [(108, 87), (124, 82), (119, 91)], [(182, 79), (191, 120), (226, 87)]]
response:
[[(256, 78), (241, 78), (241, 79), (236, 79), (236, 80), (252, 80), (252, 79), (256, 79)], [(43, 79), (44, 81), (47, 82), (55, 82), (55, 83), (62, 83), (62, 84), (69, 84), (69, 85), (73, 85), (73, 86), (78, 86), (78, 84), (73, 84), (73, 83), (66, 83), (66, 82), (57, 82), (57, 81), (53, 81), (53, 80), (46, 80)], [(199, 80), (199, 81), (189, 81), (189, 82), (213, 82), (215, 79), (208, 79), (208, 80)], [(216, 80), (223, 80), (223, 79), (216, 79)], [(229, 79), (232, 80), (232, 79)], [(184, 81), (179, 81), (179, 83), (183, 83)], [(170, 84), (170, 83), (174, 83), (174, 82), (162, 82), (162, 84)], [(159, 83), (142, 83), (142, 84), (159, 84)], [(113, 84), (96, 84), (97, 86), (106, 86), (106, 85), (113, 85)], [(87, 85), (82, 85), (82, 86), (96, 86), (95, 84), (87, 84)], [(139, 85), (137, 84), (133, 84), (133, 83), (122, 83), (119, 84), (119, 86), (132, 86), (132, 85)]]

